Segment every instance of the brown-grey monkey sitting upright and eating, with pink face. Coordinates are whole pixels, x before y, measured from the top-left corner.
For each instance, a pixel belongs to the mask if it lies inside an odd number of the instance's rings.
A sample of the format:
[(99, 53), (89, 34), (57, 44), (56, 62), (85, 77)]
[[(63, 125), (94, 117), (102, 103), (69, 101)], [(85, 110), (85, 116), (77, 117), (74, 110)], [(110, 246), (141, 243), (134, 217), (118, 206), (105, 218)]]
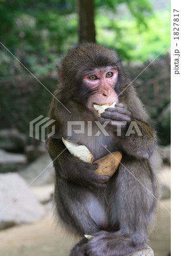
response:
[[(81, 44), (70, 49), (57, 68), (60, 82), (49, 110), (49, 117), (56, 120), (55, 133), (46, 144), (55, 168), (58, 216), (66, 228), (82, 237), (70, 255), (134, 253), (148, 242), (157, 210), (157, 134), (113, 49)], [(115, 108), (107, 108), (99, 116), (94, 104), (112, 102), (116, 102)], [(77, 123), (82, 121), (86, 121), (84, 132)], [(70, 122), (74, 122), (71, 128)], [(87, 134), (89, 122), (91, 136)], [(104, 125), (108, 136), (95, 125), (97, 122)], [(142, 136), (134, 130), (127, 136), (132, 122)], [(121, 128), (119, 135), (117, 128)], [(95, 160), (109, 152), (122, 152), (116, 173), (112, 177), (96, 174), (98, 164), (83, 162), (70, 154), (62, 137), (85, 145)], [(87, 240), (85, 234), (92, 238)]]

